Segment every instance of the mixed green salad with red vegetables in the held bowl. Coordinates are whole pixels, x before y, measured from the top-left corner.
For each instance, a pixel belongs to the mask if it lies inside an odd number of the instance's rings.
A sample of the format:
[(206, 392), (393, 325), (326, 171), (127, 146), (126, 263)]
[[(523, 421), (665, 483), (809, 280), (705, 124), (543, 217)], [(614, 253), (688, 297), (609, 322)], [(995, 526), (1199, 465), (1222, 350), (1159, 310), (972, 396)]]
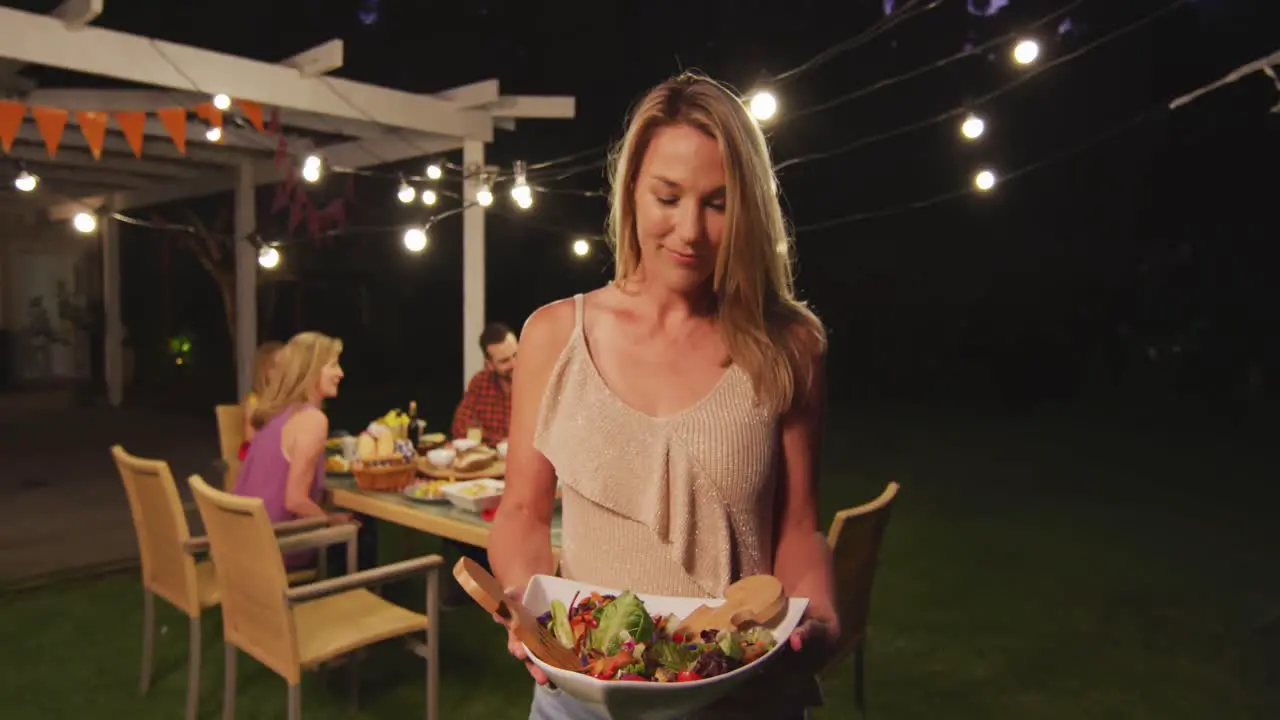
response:
[(675, 632), (680, 618), (655, 616), (627, 591), (552, 601), (539, 624), (577, 652), (582, 673), (602, 680), (686, 683), (749, 665), (776, 644), (765, 628)]

